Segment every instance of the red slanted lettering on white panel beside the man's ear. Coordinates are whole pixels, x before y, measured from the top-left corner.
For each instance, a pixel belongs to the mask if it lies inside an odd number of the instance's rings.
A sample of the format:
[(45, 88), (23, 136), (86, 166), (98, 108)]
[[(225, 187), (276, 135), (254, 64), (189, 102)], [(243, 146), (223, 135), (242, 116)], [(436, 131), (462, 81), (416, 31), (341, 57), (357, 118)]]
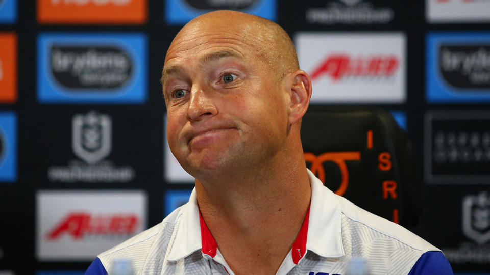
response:
[(375, 78), (394, 76), (400, 67), (400, 61), (394, 55), (358, 56), (349, 54), (330, 54), (317, 65), (311, 79), (328, 76), (332, 81), (346, 78)]

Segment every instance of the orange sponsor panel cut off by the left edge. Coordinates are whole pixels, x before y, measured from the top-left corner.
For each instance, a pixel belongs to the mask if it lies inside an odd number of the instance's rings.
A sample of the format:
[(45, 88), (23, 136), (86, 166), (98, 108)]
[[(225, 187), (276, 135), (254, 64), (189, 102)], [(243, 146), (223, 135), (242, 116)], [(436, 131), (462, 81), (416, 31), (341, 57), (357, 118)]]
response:
[(0, 102), (17, 100), (17, 36), (0, 33)]

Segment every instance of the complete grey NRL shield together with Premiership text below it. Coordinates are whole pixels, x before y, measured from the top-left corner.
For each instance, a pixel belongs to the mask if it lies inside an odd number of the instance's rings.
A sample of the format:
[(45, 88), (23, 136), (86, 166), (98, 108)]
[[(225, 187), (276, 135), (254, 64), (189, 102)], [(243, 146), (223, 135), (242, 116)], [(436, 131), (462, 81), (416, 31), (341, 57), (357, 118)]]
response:
[(72, 119), (72, 149), (81, 158), (67, 167), (50, 167), (48, 178), (58, 182), (128, 182), (134, 179), (132, 167), (116, 167), (109, 156), (112, 148), (112, 120), (109, 115), (90, 111)]

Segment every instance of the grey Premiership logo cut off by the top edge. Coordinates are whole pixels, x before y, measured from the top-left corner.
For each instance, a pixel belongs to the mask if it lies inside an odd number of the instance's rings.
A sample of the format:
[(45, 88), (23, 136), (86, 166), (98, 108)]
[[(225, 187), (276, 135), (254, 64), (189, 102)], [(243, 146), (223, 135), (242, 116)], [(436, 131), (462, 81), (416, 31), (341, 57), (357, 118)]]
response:
[(387, 24), (395, 12), (389, 7), (374, 7), (372, 1), (340, 0), (326, 1), (325, 8), (310, 7), (305, 17), (312, 24)]

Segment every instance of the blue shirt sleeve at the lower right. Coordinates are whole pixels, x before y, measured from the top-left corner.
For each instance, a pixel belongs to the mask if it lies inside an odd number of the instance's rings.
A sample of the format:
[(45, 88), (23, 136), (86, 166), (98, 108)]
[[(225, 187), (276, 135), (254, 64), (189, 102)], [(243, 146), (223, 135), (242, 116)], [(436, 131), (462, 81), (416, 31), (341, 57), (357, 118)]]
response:
[(440, 251), (428, 251), (413, 265), (408, 275), (453, 275), (448, 259)]

